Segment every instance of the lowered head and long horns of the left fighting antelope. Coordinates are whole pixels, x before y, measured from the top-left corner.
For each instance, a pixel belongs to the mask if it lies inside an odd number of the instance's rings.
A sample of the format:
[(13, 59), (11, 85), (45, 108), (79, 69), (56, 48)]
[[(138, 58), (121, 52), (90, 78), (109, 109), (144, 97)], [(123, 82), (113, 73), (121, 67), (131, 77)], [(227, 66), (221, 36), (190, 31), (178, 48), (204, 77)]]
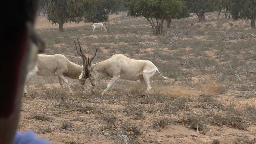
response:
[[(77, 50), (77, 46), (76, 46), (76, 52), (83, 58), (83, 67), (84, 67), (84, 70), (82, 71), (82, 73), (80, 74), (78, 80), (80, 82), (80, 84), (84, 85), (85, 83), (85, 80), (87, 79), (88, 77), (88, 72), (89, 72), (89, 69), (88, 69), (88, 65), (89, 65), (89, 57), (88, 57), (88, 60), (87, 60), (87, 57), (84, 55), (84, 53), (82, 52), (82, 48), (81, 48), (81, 45), (77, 39), (77, 42), (79, 44), (79, 48), (80, 48), (80, 52), (78, 52)], [(74, 39), (74, 43), (76, 45), (76, 42), (75, 42), (75, 39)]]

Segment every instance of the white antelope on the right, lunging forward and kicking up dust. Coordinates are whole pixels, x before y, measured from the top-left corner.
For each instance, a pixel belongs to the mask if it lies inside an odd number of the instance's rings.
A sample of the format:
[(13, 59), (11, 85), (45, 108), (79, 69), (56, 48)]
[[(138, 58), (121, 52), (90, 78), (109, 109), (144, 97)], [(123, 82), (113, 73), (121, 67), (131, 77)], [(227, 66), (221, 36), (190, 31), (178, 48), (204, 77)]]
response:
[[(97, 52), (97, 49), (96, 49)], [(96, 55), (95, 52), (95, 55)], [(81, 52), (82, 53), (82, 52)], [(94, 55), (94, 57), (95, 57)], [(86, 71), (88, 73), (86, 73)], [(85, 68), (79, 77), (84, 77), (87, 75), (90, 79), (92, 86), (97, 84), (99, 79), (102, 79), (106, 76), (111, 77), (112, 79), (108, 83), (107, 88), (101, 93), (104, 95), (110, 86), (118, 79), (123, 78), (126, 80), (136, 81), (140, 80), (140, 83), (143, 86), (143, 89), (146, 89), (145, 93), (148, 93), (151, 90), (151, 85), (149, 78), (153, 76), (156, 71), (161, 75), (156, 66), (149, 60), (133, 60), (129, 59), (122, 54), (115, 54), (111, 56), (108, 60), (101, 61), (99, 63), (91, 65), (91, 60), (89, 65)], [(163, 75), (161, 75), (164, 77)], [(167, 79), (168, 77), (164, 77)]]

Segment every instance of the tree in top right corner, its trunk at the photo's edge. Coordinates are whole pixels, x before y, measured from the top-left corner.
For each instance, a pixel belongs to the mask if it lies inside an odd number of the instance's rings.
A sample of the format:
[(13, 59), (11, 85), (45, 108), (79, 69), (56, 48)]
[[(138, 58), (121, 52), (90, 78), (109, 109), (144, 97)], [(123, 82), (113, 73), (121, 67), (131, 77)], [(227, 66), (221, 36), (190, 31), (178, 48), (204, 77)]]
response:
[(251, 27), (255, 28), (256, 0), (230, 0), (230, 13), (234, 20), (250, 19)]

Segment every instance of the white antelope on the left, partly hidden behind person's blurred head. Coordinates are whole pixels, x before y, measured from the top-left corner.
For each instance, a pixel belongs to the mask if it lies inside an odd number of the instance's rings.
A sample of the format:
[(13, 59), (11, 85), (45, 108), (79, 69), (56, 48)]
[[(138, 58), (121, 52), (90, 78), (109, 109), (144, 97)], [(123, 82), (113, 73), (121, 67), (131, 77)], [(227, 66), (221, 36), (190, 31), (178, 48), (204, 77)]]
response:
[[(78, 40), (77, 40), (78, 41)], [(75, 40), (74, 40), (75, 42)], [(79, 44), (79, 42), (78, 42)], [(76, 45), (76, 43), (75, 43)], [(81, 46), (80, 47), (80, 52)], [(35, 76), (58, 76), (60, 86), (65, 91), (63, 87), (63, 81), (68, 85), (68, 90), (70, 94), (74, 94), (71, 90), (68, 80), (65, 78), (65, 76), (72, 78), (72, 79), (78, 79), (80, 84), (84, 85), (85, 80), (87, 79), (87, 76), (84, 75), (84, 77), (79, 77), (80, 74), (85, 71), (85, 67), (88, 66), (88, 60), (85, 55), (82, 55), (80, 52), (78, 52), (76, 47), (76, 52), (82, 56), (83, 58), (83, 66), (77, 65), (71, 61), (69, 61), (64, 55), (62, 54), (54, 54), (54, 55), (46, 55), (46, 54), (38, 54), (36, 65), (33, 69), (31, 69), (26, 77), (26, 85), (29, 89), (29, 91), (32, 92), (32, 89), (29, 86), (30, 79)], [(24, 86), (24, 92), (27, 93), (26, 86)]]

